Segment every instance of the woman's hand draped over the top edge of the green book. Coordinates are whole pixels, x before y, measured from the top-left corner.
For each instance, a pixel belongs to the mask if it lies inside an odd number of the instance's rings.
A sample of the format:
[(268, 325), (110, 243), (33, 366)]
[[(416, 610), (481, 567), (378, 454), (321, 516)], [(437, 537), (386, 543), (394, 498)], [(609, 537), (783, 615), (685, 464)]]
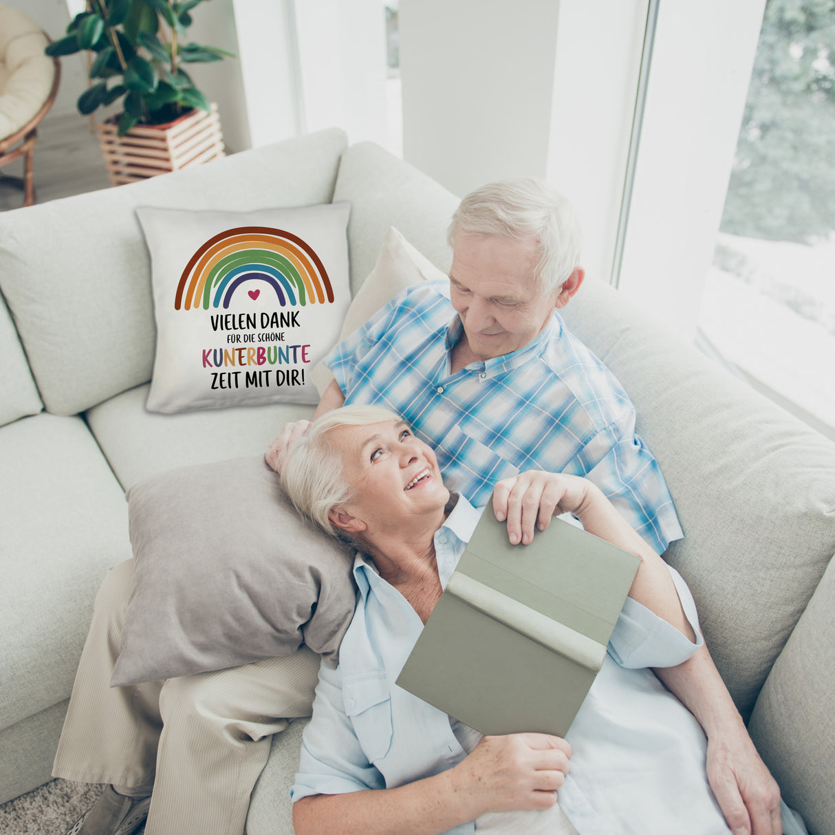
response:
[(544, 530), (552, 516), (581, 513), (596, 489), (579, 476), (528, 470), (496, 484), (493, 513), (499, 522), (508, 520), (511, 544), (527, 545), (534, 539), (534, 527)]

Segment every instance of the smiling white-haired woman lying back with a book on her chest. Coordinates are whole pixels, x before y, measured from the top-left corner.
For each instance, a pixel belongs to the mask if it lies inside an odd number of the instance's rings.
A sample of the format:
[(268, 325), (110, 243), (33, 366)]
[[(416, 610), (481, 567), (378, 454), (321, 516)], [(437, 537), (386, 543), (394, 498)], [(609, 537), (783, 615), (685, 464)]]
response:
[(303, 514), (361, 552), (357, 609), (339, 666), (321, 665), (291, 790), (296, 832), (729, 832), (704, 733), (648, 669), (701, 645), (690, 592), (592, 483), (530, 472), (493, 494), (511, 542), (569, 513), (641, 559), (561, 739), (482, 737), (394, 683), (480, 516), (406, 423), (380, 407), (328, 412), (291, 444), (281, 479)]

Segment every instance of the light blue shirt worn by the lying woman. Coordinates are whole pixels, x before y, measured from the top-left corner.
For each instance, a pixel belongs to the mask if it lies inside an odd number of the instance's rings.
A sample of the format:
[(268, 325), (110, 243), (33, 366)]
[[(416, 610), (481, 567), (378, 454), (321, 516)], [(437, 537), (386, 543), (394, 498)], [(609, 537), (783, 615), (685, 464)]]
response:
[[(480, 515), (460, 497), (435, 534), (444, 586)], [(573, 754), (559, 805), (581, 835), (729, 832), (706, 781), (701, 726), (645, 669), (681, 664), (702, 643), (690, 591), (674, 569), (670, 572), (698, 642), (626, 600), (603, 669), (566, 735)], [(342, 641), (339, 667), (321, 665), (313, 719), (291, 788), (294, 802), (314, 794), (401, 786), (466, 756), (447, 714), (394, 683), (423, 629), (417, 613), (362, 556), (354, 576), (357, 610)], [(450, 832), (474, 830), (469, 822)]]

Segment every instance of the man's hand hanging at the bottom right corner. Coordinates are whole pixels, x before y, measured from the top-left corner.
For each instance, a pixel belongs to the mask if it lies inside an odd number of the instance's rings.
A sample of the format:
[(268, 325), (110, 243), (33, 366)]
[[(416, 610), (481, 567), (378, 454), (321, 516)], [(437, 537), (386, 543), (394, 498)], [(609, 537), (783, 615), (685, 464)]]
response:
[(707, 779), (734, 835), (782, 835), (780, 788), (746, 732), (707, 743)]

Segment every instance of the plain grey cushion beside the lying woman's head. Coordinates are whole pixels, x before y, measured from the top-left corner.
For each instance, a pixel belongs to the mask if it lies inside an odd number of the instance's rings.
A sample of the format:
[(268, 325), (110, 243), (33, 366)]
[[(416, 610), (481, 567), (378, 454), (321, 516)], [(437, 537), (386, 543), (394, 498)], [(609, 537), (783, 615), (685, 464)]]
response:
[(301, 519), (263, 458), (170, 470), (127, 498), (134, 588), (113, 686), (291, 655), (302, 641), (336, 664), (354, 554)]

